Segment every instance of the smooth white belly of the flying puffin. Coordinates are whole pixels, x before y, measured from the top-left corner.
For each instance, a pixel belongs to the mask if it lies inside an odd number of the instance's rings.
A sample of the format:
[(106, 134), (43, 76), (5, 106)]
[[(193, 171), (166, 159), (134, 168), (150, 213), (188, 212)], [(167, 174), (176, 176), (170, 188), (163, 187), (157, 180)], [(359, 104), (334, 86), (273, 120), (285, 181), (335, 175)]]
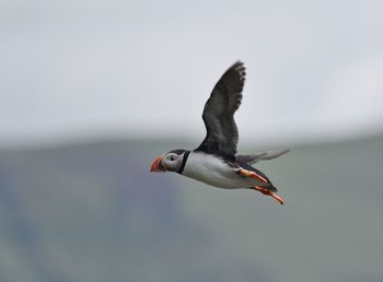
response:
[(260, 185), (255, 178), (236, 174), (237, 168), (231, 167), (220, 158), (201, 152), (190, 152), (183, 175), (211, 186), (235, 189)]

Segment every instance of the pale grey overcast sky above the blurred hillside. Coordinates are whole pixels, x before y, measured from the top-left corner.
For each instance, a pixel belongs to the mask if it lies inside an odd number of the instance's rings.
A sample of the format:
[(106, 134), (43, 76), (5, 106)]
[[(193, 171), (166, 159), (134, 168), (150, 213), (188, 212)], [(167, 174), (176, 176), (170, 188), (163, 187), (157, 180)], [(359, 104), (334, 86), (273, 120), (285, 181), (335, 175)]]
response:
[(247, 68), (244, 142), (383, 131), (383, 1), (0, 1), (0, 144), (200, 141)]

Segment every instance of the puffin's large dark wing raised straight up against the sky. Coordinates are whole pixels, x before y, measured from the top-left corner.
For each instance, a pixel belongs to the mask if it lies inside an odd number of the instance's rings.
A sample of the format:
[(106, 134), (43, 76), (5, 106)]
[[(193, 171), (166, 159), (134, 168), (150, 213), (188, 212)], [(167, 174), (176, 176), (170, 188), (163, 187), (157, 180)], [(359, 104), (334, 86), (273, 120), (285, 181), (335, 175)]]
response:
[(217, 82), (202, 114), (207, 134), (196, 151), (219, 153), (235, 160), (239, 132), (234, 113), (241, 105), (245, 75), (243, 62), (237, 61)]

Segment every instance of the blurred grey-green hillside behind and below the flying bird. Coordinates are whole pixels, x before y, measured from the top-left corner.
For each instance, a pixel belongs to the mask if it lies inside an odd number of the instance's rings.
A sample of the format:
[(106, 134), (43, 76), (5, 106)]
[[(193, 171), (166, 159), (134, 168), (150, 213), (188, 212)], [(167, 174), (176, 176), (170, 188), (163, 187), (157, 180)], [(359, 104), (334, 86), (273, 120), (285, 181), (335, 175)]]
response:
[(174, 148), (193, 145), (0, 151), (0, 281), (383, 281), (382, 137), (260, 163), (283, 207), (150, 174)]

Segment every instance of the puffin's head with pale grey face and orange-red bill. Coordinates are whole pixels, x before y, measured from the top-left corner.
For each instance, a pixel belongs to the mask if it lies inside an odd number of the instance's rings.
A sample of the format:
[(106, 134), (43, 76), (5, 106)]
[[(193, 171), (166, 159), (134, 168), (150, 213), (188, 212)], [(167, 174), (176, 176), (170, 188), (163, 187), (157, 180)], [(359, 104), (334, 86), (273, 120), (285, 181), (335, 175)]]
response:
[(184, 163), (186, 150), (173, 150), (156, 157), (151, 167), (151, 173), (178, 172)]

